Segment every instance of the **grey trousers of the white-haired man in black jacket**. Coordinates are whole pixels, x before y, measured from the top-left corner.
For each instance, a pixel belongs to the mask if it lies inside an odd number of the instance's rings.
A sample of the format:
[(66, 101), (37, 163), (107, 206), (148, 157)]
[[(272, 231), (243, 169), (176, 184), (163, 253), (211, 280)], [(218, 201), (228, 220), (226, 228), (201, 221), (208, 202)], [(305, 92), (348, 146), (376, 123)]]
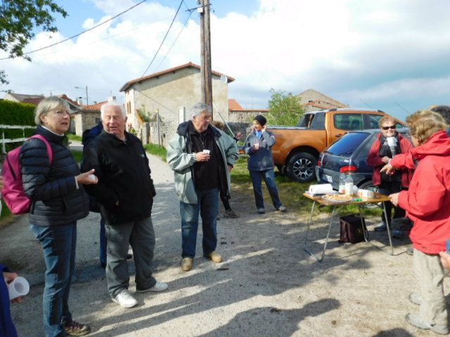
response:
[(110, 225), (106, 223), (106, 282), (110, 296), (114, 298), (124, 289), (128, 289), (129, 275), (127, 253), (128, 244), (133, 249), (136, 265), (136, 288), (148, 289), (155, 285), (151, 263), (155, 249), (155, 232), (151, 217), (145, 220)]

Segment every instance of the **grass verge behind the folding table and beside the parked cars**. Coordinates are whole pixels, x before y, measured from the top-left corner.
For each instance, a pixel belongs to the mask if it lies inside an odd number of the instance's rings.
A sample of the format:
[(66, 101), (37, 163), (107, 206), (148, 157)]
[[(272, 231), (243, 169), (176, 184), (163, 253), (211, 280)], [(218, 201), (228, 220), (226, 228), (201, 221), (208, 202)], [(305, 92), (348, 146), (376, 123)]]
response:
[[(282, 176), (278, 170), (275, 170), (275, 180), (278, 187), (278, 194), (283, 205), (286, 206), (289, 211), (299, 213), (301, 216), (309, 215), (311, 212), (312, 201), (303, 197), (303, 193), (304, 191), (307, 191), (309, 185), (314, 184), (314, 182), (296, 183), (291, 181), (287, 176)], [(250, 179), (250, 173), (247, 169), (247, 158), (240, 157), (238, 161), (236, 161), (234, 169), (231, 171), (231, 190), (248, 195), (251, 197), (250, 200), (252, 201), (252, 204), (255, 204), (252, 180)], [(271, 205), (271, 198), (264, 182), (262, 183), (262, 192), (264, 194), (264, 204), (266, 204), (266, 206)], [(321, 211), (331, 213), (333, 207), (325, 206), (321, 208)], [(342, 207), (340, 213), (356, 214), (358, 211), (358, 206), (349, 205)], [(316, 213), (320, 213), (317, 208)], [(381, 216), (381, 209), (378, 207), (374, 209), (365, 209), (364, 216)]]

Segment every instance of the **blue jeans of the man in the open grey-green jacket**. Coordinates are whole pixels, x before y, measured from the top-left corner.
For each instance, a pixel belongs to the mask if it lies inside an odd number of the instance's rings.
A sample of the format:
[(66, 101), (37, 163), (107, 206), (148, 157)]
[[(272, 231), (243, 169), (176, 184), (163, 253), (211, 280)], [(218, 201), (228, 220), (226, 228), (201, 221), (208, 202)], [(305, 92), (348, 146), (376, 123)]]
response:
[(193, 258), (197, 243), (198, 216), (202, 217), (203, 255), (212, 253), (217, 246), (217, 212), (219, 211), (219, 189), (195, 190), (197, 204), (180, 201), (181, 257)]

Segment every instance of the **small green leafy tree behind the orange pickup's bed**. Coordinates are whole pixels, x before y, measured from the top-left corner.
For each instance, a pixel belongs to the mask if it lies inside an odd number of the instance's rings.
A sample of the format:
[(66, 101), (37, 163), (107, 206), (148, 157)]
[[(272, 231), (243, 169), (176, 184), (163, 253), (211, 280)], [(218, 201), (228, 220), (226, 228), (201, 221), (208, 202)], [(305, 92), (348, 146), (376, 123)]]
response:
[(270, 90), (271, 98), (269, 100), (269, 113), (266, 114), (267, 121), (272, 125), (297, 125), (304, 110), (300, 103), (300, 98), (293, 93), (285, 91)]

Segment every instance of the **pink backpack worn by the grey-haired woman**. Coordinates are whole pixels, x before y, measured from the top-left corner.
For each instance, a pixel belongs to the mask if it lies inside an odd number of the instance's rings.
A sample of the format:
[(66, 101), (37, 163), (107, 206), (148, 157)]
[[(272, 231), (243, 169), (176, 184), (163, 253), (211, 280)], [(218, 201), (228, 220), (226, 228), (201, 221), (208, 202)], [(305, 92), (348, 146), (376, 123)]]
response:
[[(50, 164), (53, 161), (53, 152), (49, 142), (44, 136), (34, 135), (30, 138), (39, 138), (47, 147), (47, 154), (49, 154)], [(28, 138), (28, 139), (30, 139)], [(22, 183), (22, 173), (20, 173), (20, 147), (16, 147), (6, 154), (6, 159), (3, 164), (3, 181), (4, 187), (1, 195), (5, 201), (8, 209), (14, 214), (23, 214), (30, 211), (31, 199), (25, 194)]]

